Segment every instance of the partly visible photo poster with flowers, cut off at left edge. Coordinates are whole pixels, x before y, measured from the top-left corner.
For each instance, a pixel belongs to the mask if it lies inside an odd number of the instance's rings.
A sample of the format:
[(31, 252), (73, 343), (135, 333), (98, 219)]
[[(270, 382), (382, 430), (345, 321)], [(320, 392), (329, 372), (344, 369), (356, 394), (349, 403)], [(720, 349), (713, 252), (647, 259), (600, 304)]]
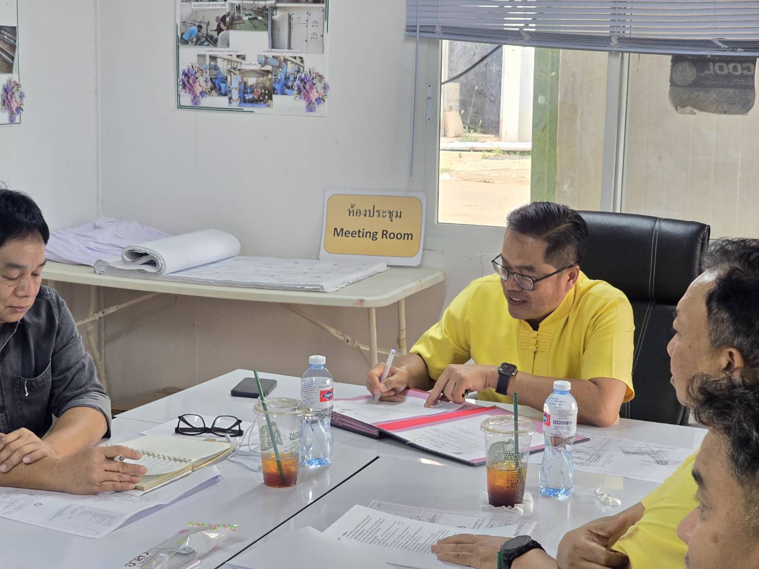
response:
[(0, 0), (0, 126), (21, 122), (24, 91), (18, 67), (17, 0)]

